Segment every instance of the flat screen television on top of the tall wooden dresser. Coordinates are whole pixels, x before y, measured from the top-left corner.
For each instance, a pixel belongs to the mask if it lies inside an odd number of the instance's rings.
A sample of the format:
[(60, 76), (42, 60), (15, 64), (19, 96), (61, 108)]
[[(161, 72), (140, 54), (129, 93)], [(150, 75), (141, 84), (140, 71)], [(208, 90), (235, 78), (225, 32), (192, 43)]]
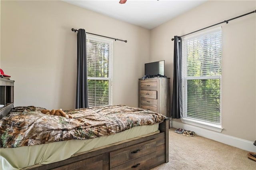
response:
[(164, 60), (145, 63), (145, 75), (164, 75)]

